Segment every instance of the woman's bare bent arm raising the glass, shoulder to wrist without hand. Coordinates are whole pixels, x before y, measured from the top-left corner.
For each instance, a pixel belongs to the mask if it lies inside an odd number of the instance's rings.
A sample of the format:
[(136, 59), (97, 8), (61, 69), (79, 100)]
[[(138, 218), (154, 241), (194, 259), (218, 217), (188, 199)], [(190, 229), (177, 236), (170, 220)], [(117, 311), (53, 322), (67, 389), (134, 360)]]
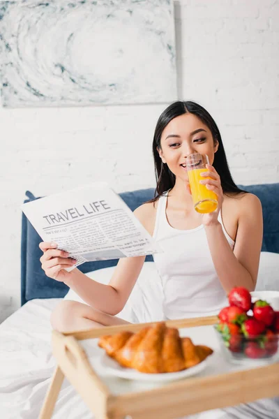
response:
[(259, 198), (247, 193), (239, 199), (239, 223), (234, 251), (229, 246), (220, 223), (204, 227), (211, 257), (225, 291), (229, 293), (234, 286), (243, 286), (253, 291), (257, 282), (263, 235), (262, 205)]

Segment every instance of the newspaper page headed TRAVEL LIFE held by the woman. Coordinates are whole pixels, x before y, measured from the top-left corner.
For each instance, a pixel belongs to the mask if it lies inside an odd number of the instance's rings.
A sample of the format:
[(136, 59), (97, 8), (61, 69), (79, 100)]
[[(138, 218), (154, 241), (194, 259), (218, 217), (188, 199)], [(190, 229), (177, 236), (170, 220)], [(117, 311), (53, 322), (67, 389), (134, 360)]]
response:
[(44, 242), (55, 242), (77, 260), (73, 268), (93, 260), (160, 252), (153, 237), (105, 182), (33, 200), (23, 204), (22, 211)]

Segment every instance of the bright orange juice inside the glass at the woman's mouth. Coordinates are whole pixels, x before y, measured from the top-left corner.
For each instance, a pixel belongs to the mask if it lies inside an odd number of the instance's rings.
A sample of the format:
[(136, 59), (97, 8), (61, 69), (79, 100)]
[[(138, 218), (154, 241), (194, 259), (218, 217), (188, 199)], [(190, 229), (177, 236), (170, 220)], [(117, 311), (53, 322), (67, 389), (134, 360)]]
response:
[(200, 174), (206, 172), (206, 169), (188, 170), (188, 178), (191, 186), (193, 203), (195, 210), (201, 214), (213, 212), (218, 207), (217, 195), (213, 191), (209, 191), (205, 185), (199, 183), (202, 179), (210, 179)]

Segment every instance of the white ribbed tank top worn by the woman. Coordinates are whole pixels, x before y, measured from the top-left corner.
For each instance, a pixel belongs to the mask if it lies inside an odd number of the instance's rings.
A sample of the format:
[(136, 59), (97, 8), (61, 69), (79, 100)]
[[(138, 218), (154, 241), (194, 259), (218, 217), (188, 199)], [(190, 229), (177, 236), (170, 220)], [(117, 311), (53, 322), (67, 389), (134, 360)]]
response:
[[(158, 200), (153, 237), (163, 253), (153, 254), (163, 288), (163, 314), (166, 319), (211, 316), (228, 305), (209, 250), (204, 226), (177, 230), (166, 216), (166, 192)], [(223, 232), (230, 247), (234, 240)]]

